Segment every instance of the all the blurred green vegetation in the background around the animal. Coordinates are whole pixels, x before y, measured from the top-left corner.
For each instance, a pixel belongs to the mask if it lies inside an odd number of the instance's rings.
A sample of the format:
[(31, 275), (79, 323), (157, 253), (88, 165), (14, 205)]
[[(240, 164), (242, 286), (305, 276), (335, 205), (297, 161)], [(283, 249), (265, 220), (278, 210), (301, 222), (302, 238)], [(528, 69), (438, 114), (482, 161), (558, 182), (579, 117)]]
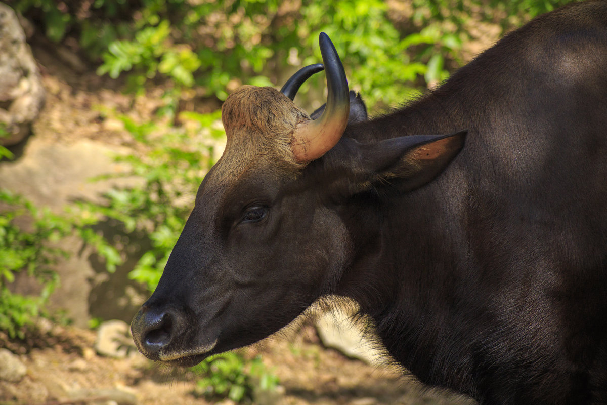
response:
[[(138, 145), (119, 158), (131, 168), (121, 175), (140, 178), (138, 186), (112, 189), (103, 203), (75, 203), (63, 216), (0, 189), (0, 330), (10, 338), (22, 338), (37, 317), (52, 316), (44, 305), (58, 282), (52, 264), (66, 254), (53, 245), (56, 240), (80, 235), (104, 257), (107, 271), (115, 271), (124, 261), (124, 246), (93, 231), (95, 223), (108, 219), (120, 222), (127, 233), (143, 233), (149, 239), (151, 248), (130, 277), (153, 291), (192, 208), (191, 196), (215, 163), (214, 148), (225, 136), (219, 114), (222, 101), (241, 84), (280, 87), (300, 67), (321, 61), (320, 32), (333, 40), (351, 89), (361, 92), (372, 115), (432, 89), (507, 31), (565, 3), (8, 1), (50, 44), (69, 49), (98, 75), (117, 80), (124, 92), (144, 97), (151, 89), (161, 89), (163, 106), (141, 122), (115, 111), (101, 112), (120, 120)], [(324, 103), (324, 81), (322, 74), (309, 80), (296, 102), (308, 109), (319, 107)], [(10, 158), (1, 146), (0, 152)], [(19, 226), (23, 216), (30, 218), (30, 225)], [(45, 286), (41, 296), (10, 291), (20, 271)], [(229, 356), (203, 369), (210, 372), (214, 367), (216, 374), (223, 367), (217, 364), (243, 369)], [(231, 392), (234, 401), (249, 395), (239, 373), (214, 383), (223, 384), (221, 390)], [(230, 388), (226, 381), (232, 379), (240, 386)]]

